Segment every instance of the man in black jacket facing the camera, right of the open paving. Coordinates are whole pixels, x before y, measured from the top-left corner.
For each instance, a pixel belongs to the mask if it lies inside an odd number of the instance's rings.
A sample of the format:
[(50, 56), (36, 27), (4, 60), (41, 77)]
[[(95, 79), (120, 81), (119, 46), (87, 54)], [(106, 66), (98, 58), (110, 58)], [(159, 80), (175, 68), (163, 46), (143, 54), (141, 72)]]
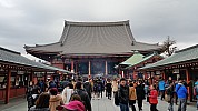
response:
[(118, 90), (118, 98), (120, 111), (129, 111), (129, 88), (126, 85), (126, 79), (120, 79), (120, 87)]

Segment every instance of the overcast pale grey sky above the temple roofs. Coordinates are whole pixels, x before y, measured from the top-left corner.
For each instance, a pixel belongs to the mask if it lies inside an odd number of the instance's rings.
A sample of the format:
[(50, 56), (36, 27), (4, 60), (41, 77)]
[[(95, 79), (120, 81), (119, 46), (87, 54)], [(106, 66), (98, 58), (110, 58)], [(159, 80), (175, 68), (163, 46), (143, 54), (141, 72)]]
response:
[(198, 43), (197, 0), (0, 0), (0, 47), (26, 54), (24, 44), (56, 42), (65, 20), (129, 20), (137, 41)]

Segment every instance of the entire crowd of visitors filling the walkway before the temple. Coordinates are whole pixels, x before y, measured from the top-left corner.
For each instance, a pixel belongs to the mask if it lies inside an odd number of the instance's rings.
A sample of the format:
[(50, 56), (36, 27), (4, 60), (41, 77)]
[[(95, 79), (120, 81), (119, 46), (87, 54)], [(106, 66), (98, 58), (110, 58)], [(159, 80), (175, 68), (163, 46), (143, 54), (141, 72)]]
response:
[[(198, 81), (194, 88), (198, 98)], [(39, 81), (31, 83), (27, 90), (29, 111), (91, 111), (91, 100), (100, 100), (102, 93), (111, 100), (113, 93), (115, 104), (120, 111), (142, 111), (142, 101), (150, 103), (150, 111), (158, 111), (158, 97), (169, 103), (168, 111), (174, 111), (174, 102), (178, 102), (178, 111), (186, 111), (187, 83), (184, 80), (172, 81), (171, 77), (158, 83), (149, 83), (148, 80), (116, 79), (69, 79), (59, 82)], [(136, 108), (136, 102), (138, 108)], [(198, 108), (198, 102), (197, 102)]]

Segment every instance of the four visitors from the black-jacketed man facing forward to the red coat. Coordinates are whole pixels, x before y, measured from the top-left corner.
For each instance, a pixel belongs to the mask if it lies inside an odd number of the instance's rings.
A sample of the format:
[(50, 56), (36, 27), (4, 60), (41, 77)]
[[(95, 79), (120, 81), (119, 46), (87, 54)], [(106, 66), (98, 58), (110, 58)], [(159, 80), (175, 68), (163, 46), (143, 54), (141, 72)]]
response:
[[(129, 107), (132, 111), (136, 111), (135, 103), (138, 102), (138, 110), (142, 111), (142, 101), (146, 99), (145, 83), (139, 81), (129, 81), (125, 78), (120, 79), (118, 88), (118, 97), (115, 97), (115, 101), (119, 101), (120, 111), (129, 111)], [(150, 111), (158, 111), (156, 109), (158, 100), (158, 92), (155, 85), (150, 85), (149, 93)]]

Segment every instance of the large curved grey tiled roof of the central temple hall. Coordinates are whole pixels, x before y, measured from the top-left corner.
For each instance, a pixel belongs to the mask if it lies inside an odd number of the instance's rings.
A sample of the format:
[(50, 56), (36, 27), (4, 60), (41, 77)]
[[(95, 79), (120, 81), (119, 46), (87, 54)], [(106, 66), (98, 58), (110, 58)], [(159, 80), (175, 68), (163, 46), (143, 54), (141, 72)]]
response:
[[(133, 46), (132, 46), (133, 44)], [(28, 52), (59, 52), (60, 54), (123, 54), (131, 50), (159, 50), (157, 44), (137, 42), (129, 21), (65, 22), (59, 42), (26, 47)]]

